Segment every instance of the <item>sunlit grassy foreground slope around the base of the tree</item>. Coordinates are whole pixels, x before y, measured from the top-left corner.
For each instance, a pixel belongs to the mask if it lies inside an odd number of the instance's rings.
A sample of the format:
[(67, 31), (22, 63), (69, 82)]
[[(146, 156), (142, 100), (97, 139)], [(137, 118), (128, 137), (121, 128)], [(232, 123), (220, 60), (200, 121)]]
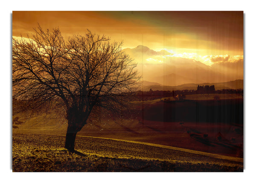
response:
[[(13, 172), (242, 172), (240, 158), (225, 160), (163, 147), (102, 138), (13, 134)], [(240, 161), (240, 162), (239, 162)]]

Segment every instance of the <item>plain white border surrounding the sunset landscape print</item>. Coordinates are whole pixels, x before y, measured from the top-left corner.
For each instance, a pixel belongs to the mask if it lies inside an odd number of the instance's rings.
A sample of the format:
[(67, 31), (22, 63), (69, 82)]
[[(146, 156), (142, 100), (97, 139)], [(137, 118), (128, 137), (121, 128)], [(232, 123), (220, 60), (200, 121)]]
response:
[[(38, 3), (35, 3), (38, 2)], [(42, 2), (43, 4), (40, 4)], [(251, 182), (255, 170), (255, 6), (251, 0), (232, 1), (205, 1), (205, 0), (96, 0), (96, 1), (34, 1), (34, 0), (12, 0), (1, 3), (1, 179), (11, 182)], [(245, 169), (243, 173), (12, 173), (10, 169), (12, 148), (11, 142), (11, 34), (12, 34), (12, 11), (34, 11), (34, 10), (148, 10), (148, 11), (244, 11), (244, 81), (245, 81)]]

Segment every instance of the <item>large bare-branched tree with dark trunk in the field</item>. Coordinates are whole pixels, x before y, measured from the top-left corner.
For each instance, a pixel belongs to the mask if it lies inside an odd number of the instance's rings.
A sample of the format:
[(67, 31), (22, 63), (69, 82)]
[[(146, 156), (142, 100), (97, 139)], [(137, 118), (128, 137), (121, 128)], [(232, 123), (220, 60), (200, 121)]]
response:
[(26, 108), (63, 107), (68, 127), (65, 148), (74, 151), (76, 134), (96, 108), (119, 110), (140, 83), (136, 64), (122, 42), (93, 34), (70, 37), (40, 26), (29, 39), (12, 43), (13, 98)]

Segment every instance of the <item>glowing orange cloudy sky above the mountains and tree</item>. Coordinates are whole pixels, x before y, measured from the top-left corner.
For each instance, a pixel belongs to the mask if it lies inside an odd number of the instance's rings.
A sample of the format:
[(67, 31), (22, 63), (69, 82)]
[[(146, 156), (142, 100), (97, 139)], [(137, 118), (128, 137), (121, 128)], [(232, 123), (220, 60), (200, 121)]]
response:
[[(123, 48), (143, 45), (172, 53), (172, 57), (163, 55), (164, 59), (135, 56), (145, 76), (151, 75), (145, 68), (153, 62), (171, 65), (176, 58), (183, 58), (189, 59), (189, 64), (194, 59), (212, 66), (213, 73), (228, 72), (229, 76), (219, 79), (225, 82), (243, 79), (243, 16), (243, 11), (13, 11), (12, 34), (26, 37), (38, 23), (44, 29), (59, 27), (64, 38), (90, 29), (112, 40), (123, 40)], [(173, 66), (179, 63), (175, 61)], [(234, 72), (236, 77), (232, 77)]]

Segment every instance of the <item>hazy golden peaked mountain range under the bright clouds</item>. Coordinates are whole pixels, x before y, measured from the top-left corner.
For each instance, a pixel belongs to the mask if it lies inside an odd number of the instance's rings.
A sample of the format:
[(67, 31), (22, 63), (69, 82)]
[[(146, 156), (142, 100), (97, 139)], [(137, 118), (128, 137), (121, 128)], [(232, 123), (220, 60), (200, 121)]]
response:
[(154, 51), (146, 46), (123, 49), (134, 62), (143, 80), (165, 86), (185, 83), (220, 83), (243, 79), (243, 59), (216, 62), (211, 66), (189, 56), (190, 53), (174, 54)]

